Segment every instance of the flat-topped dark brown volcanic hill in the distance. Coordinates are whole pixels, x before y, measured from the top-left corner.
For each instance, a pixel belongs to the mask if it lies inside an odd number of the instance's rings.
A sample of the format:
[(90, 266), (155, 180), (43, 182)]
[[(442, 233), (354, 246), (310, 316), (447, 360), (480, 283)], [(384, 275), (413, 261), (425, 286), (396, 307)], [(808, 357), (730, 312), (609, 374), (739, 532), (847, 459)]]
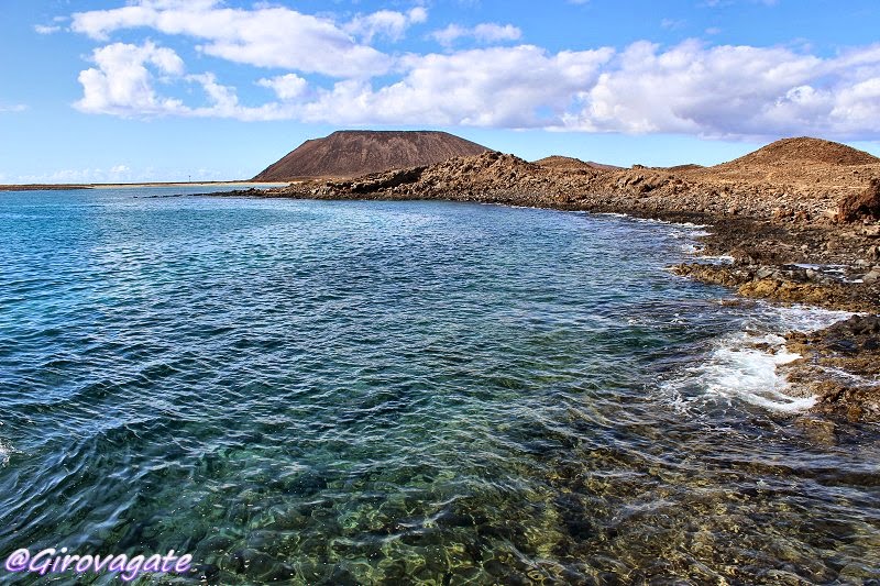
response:
[(306, 141), (253, 180), (358, 177), (388, 169), (432, 165), (486, 151), (485, 146), (446, 132), (338, 131), (323, 139)]

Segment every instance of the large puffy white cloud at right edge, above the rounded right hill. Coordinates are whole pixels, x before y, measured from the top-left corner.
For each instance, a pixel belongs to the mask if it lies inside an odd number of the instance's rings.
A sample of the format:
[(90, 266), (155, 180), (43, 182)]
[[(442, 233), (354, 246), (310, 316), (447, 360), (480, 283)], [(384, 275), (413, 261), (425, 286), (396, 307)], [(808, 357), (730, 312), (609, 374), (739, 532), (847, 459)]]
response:
[(822, 59), (781, 47), (688, 41), (663, 52), (639, 42), (582, 95), (562, 126), (717, 137), (876, 135), (878, 82), (880, 46)]

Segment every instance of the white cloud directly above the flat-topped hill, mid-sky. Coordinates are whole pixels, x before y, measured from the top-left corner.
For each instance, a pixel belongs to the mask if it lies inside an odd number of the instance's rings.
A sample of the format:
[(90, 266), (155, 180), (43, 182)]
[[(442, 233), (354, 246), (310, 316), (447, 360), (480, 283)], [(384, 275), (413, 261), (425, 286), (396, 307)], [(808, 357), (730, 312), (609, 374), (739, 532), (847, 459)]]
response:
[(413, 123), (526, 128), (558, 120), (572, 96), (592, 86), (609, 48), (562, 52), (494, 47), (411, 55), (398, 82), (373, 89), (342, 81), (306, 104), (302, 119), (334, 123)]

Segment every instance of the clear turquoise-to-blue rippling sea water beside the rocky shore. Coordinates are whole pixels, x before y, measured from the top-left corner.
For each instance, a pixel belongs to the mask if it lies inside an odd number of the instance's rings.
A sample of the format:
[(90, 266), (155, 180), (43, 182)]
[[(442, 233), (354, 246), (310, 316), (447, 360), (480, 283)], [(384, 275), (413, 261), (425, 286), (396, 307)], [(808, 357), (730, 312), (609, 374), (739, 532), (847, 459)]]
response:
[(175, 192), (0, 194), (3, 559), (193, 554), (163, 583), (880, 578), (877, 427), (805, 423), (784, 353), (752, 347), (835, 316), (669, 274), (696, 228), (144, 197)]

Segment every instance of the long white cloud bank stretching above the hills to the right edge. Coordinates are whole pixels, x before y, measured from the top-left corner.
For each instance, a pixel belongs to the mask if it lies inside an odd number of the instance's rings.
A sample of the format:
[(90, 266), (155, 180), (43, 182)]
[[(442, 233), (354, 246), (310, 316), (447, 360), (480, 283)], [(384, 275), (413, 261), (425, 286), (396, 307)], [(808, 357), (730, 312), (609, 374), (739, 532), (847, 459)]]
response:
[[(585, 132), (685, 133), (735, 137), (880, 134), (880, 45), (822, 59), (782, 47), (688, 41), (666, 51), (637, 42), (548, 53), (522, 45), (405, 55), (399, 79), (358, 78), (310, 87), (296, 74), (261, 78), (277, 101), (240, 103), (210, 73), (185, 75), (180, 58), (153, 43), (111, 44), (80, 74), (80, 110), (117, 115), (218, 117), (331, 124), (549, 128)], [(155, 75), (153, 71), (155, 71)], [(161, 84), (196, 85), (201, 106), (163, 98)]]

